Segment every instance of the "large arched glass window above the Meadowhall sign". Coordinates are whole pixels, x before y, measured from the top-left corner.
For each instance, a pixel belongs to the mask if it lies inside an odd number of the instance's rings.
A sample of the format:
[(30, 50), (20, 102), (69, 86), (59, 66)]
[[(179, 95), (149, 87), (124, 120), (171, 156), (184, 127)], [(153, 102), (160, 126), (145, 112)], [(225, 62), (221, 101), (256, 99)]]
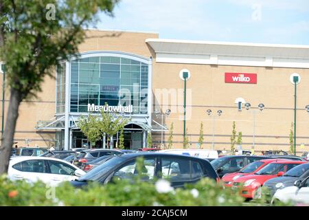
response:
[(88, 104), (133, 105), (147, 113), (148, 64), (128, 58), (96, 56), (71, 61), (71, 112), (87, 112)]

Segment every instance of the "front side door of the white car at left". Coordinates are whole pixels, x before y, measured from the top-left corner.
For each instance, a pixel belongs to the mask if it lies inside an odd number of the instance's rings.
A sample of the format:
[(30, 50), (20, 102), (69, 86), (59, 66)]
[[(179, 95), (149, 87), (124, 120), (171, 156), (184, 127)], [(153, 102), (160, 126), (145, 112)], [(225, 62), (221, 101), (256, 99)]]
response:
[(49, 179), (51, 184), (57, 185), (62, 181), (71, 181), (77, 178), (76, 175), (74, 175), (76, 168), (73, 166), (49, 159), (47, 160), (47, 163), (49, 167)]

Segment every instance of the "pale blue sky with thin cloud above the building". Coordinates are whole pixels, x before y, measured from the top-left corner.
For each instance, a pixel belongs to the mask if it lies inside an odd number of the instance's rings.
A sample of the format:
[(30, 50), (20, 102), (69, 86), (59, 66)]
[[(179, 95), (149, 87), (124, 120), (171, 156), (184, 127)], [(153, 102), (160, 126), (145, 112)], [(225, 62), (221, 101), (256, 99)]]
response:
[(122, 0), (95, 28), (161, 39), (309, 45), (308, 0)]

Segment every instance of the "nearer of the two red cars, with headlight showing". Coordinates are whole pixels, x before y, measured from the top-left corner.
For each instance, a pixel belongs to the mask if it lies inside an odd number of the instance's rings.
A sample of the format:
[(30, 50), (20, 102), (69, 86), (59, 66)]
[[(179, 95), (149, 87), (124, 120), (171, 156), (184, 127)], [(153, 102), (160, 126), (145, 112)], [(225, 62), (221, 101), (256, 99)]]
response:
[(306, 164), (306, 162), (295, 160), (280, 160), (277, 162), (271, 162), (253, 175), (239, 177), (233, 181), (232, 188), (238, 189), (242, 186), (240, 189), (240, 195), (242, 195), (242, 197), (247, 199), (258, 199), (262, 195), (262, 186), (265, 181), (279, 177), (286, 171), (298, 166), (299, 164)]

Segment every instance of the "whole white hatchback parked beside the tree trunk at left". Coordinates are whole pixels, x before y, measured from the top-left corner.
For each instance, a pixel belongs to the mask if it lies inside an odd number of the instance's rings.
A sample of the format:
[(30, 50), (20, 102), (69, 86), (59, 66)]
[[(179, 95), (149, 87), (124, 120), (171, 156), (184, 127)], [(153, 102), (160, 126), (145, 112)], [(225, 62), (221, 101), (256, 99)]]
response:
[(77, 166), (52, 157), (11, 157), (8, 167), (8, 177), (11, 180), (41, 180), (49, 186), (77, 179), (84, 174)]

